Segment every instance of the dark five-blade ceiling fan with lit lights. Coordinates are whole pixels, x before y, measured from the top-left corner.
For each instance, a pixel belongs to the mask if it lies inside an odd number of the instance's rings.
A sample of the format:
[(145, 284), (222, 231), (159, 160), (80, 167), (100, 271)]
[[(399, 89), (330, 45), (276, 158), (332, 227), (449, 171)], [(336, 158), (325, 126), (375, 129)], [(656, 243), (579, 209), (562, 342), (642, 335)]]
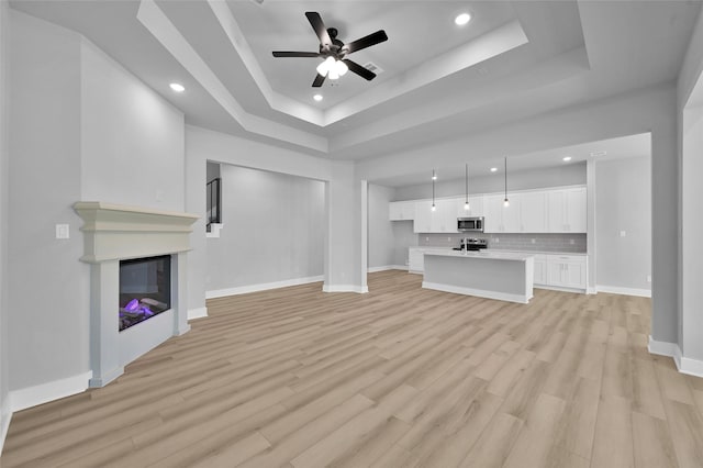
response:
[(347, 69), (357, 74), (361, 78), (372, 80), (376, 78), (376, 74), (356, 62), (346, 58), (347, 55), (360, 51), (366, 47), (388, 41), (386, 31), (379, 30), (359, 40), (353, 41), (348, 44), (343, 43), (337, 38), (337, 30), (334, 27), (325, 27), (325, 23), (322, 21), (320, 13), (315, 11), (305, 12), (308, 21), (315, 31), (317, 38), (320, 40), (320, 52), (287, 52), (275, 51), (274, 57), (322, 57), (325, 60), (317, 66), (317, 76), (315, 77), (312, 86), (320, 88), (325, 81), (325, 78), (337, 79), (344, 75)]

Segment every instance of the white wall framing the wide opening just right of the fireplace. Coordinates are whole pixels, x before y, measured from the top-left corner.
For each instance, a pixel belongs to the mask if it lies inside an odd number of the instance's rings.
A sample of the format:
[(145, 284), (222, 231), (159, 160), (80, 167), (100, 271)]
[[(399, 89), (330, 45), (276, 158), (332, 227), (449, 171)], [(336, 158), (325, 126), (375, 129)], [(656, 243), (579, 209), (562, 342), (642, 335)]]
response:
[[(332, 161), (304, 153), (270, 146), (196, 126), (186, 126), (187, 211), (202, 218), (193, 224), (192, 250), (189, 253), (189, 308), (205, 310), (207, 239), (205, 182), (207, 161), (268, 170), (326, 182), (325, 200), (328, 210), (325, 233), (324, 276), (328, 290), (355, 290), (354, 272), (359, 269), (360, 256), (353, 246), (356, 235), (354, 213), (354, 165)], [(224, 221), (227, 230), (228, 221)], [(357, 279), (358, 281), (358, 279)]]

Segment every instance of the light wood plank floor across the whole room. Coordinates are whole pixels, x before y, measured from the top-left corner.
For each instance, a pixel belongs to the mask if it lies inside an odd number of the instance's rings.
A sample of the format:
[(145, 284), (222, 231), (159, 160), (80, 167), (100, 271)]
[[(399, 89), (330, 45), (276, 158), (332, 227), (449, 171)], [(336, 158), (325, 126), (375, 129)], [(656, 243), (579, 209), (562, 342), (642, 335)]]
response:
[(420, 282), (210, 301), (118, 381), (16, 413), (0, 465), (703, 466), (703, 379), (647, 353), (649, 300)]

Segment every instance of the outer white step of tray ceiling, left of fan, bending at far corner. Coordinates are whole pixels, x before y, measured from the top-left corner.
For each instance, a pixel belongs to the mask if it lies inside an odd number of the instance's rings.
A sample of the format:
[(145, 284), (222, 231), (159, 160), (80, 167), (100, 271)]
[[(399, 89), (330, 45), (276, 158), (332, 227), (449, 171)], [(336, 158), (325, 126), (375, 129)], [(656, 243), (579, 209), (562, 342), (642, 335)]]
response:
[(142, 0), (136, 18), (244, 130), (327, 153), (327, 138), (246, 112), (154, 0)]

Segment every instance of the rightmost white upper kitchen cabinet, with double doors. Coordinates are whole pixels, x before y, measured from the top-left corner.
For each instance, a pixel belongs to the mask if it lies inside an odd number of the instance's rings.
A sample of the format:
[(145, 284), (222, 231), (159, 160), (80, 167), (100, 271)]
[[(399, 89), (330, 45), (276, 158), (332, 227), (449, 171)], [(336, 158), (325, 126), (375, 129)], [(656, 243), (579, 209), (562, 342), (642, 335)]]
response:
[(548, 192), (548, 232), (587, 232), (587, 192), (585, 187), (549, 190)]

